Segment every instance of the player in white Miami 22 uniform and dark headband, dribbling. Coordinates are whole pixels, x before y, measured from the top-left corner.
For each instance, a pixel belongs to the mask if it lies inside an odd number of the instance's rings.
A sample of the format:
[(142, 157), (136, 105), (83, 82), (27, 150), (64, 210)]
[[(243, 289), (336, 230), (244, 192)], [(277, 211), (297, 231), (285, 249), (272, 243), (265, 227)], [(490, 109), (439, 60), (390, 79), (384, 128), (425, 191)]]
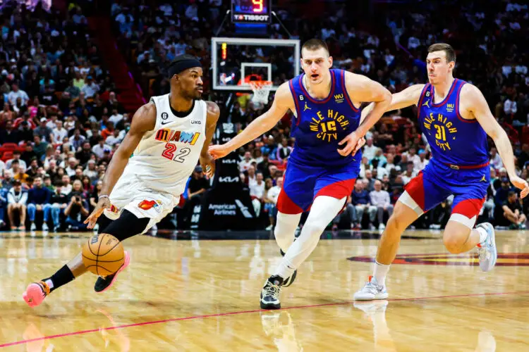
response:
[[(169, 66), (169, 77), (171, 92), (153, 96), (136, 111), (128, 134), (109, 163), (97, 206), (85, 221), (88, 228), (98, 222), (99, 233), (120, 241), (143, 234), (171, 213), (197, 161), (206, 175), (214, 175), (214, 160), (207, 148), (217, 126), (219, 106), (200, 100), (202, 65), (194, 56), (177, 56)], [(130, 255), (125, 252), (118, 272), (98, 277), (95, 291), (109, 289), (129, 263)], [(30, 284), (23, 298), (30, 307), (38, 306), (51, 291), (86, 271), (79, 253), (51, 277)]]

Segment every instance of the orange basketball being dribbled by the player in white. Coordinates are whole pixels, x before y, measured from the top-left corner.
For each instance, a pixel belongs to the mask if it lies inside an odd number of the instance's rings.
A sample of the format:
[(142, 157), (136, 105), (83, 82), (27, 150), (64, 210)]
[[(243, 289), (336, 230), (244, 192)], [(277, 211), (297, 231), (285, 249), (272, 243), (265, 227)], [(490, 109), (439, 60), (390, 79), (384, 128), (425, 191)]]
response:
[(96, 234), (90, 237), (81, 253), (87, 270), (100, 276), (114, 274), (125, 260), (121, 242), (111, 234)]

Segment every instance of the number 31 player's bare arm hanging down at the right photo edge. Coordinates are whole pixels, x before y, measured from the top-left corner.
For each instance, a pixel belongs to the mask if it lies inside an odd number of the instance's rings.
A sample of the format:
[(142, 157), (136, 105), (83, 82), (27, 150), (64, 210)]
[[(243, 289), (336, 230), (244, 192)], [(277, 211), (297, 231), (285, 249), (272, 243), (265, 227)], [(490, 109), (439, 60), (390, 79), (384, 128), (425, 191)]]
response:
[(501, 161), (504, 162), (504, 166), (509, 174), (509, 179), (512, 184), (518, 189), (521, 189), (521, 198), (524, 198), (529, 193), (528, 183), (525, 182), (521, 177), (516, 175), (516, 168), (514, 166), (514, 154), (513, 147), (509, 136), (499, 123), (497, 122), (494, 115), (492, 115), (489, 105), (485, 100), (485, 96), (481, 93), (478, 87), (473, 84), (465, 84), (461, 89), (461, 102), (459, 106), (460, 111), (465, 109), (472, 113), (476, 120), (480, 123), (483, 130), (494, 140), (494, 144), (498, 149)]

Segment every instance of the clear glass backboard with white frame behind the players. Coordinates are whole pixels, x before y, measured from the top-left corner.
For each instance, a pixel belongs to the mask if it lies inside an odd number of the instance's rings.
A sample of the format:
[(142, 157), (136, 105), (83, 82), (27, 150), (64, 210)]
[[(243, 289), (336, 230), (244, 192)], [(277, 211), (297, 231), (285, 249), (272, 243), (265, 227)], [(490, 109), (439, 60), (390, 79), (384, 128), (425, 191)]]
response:
[(212, 38), (212, 88), (251, 92), (250, 80), (272, 81), (272, 90), (300, 73), (298, 39)]

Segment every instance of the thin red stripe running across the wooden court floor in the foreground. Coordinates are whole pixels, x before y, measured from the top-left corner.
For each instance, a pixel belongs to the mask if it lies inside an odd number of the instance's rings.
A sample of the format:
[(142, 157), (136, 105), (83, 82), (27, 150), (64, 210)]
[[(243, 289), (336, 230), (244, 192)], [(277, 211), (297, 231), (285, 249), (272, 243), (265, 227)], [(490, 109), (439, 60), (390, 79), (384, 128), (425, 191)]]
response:
[[(478, 296), (501, 296), (501, 295), (508, 295), (508, 294), (529, 294), (529, 291), (492, 292), (490, 294), (458, 294), (458, 295), (454, 295), (454, 296), (394, 298), (394, 299), (387, 299), (387, 301), (390, 301), (390, 302), (420, 301), (422, 299), (478, 297)], [(352, 303), (353, 302), (322, 303), (322, 304), (312, 304), (312, 305), (308, 305), (308, 306), (296, 306), (296, 307), (281, 308), (281, 310), (292, 310), (292, 309), (299, 309), (299, 308), (318, 308), (318, 307), (328, 307), (328, 306), (345, 306), (347, 304), (352, 304)], [(262, 309), (241, 310), (241, 311), (237, 311), (237, 312), (217, 313), (217, 314), (207, 314), (207, 315), (194, 315), (194, 316), (190, 316), (190, 317), (171, 318), (171, 319), (164, 319), (164, 320), (154, 320), (154, 321), (150, 321), (150, 322), (135, 322), (134, 324), (118, 325), (116, 327), (104, 327), (104, 328), (98, 328), (98, 329), (81, 330), (81, 331), (77, 331), (77, 332), (66, 332), (65, 334), (56, 334), (56, 335), (50, 335), (50, 336), (45, 336), (45, 337), (38, 337), (37, 339), (28, 339), (28, 340), (20, 340), (20, 341), (8, 342), (7, 344), (1, 344), (0, 348), (9, 347), (9, 346), (16, 346), (16, 345), (20, 345), (20, 344), (28, 344), (29, 342), (35, 342), (35, 341), (41, 341), (41, 340), (56, 339), (58, 337), (68, 337), (68, 336), (74, 336), (74, 335), (80, 335), (80, 334), (88, 334), (90, 332), (99, 332), (101, 330), (124, 329), (126, 327), (140, 327), (142, 325), (154, 325), (154, 324), (160, 324), (162, 322), (178, 322), (178, 321), (181, 321), (181, 320), (193, 320), (193, 319), (204, 319), (204, 318), (212, 318), (212, 317), (224, 317), (226, 315), (238, 315), (238, 314), (246, 314), (246, 313), (259, 313), (261, 311), (267, 311), (267, 310), (262, 310)]]

